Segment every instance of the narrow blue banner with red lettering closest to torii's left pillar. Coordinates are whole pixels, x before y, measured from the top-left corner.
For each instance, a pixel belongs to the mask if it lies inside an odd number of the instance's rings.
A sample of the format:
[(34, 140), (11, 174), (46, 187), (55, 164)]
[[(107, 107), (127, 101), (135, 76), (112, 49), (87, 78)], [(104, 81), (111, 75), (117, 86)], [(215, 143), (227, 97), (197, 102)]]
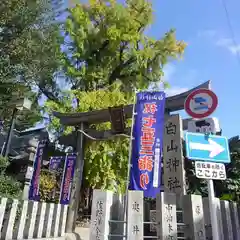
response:
[(60, 189), (60, 204), (69, 204), (77, 155), (67, 154)]

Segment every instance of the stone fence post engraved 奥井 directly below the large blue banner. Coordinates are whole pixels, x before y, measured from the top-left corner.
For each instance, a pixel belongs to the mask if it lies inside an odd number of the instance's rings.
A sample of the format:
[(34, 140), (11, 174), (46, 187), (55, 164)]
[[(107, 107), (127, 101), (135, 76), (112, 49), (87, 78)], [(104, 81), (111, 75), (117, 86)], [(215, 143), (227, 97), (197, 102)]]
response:
[(143, 239), (143, 191), (128, 191), (127, 239)]

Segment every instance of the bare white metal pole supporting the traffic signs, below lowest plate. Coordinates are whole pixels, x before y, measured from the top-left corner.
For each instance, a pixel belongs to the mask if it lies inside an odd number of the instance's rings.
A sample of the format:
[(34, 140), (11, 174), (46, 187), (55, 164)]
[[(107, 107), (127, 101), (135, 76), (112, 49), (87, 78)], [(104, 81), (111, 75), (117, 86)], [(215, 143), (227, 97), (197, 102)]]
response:
[(213, 186), (212, 179), (208, 180), (208, 199), (209, 199), (209, 210), (210, 210), (210, 216), (211, 216), (213, 240), (219, 240), (217, 209), (216, 209), (215, 193), (214, 193), (214, 186)]

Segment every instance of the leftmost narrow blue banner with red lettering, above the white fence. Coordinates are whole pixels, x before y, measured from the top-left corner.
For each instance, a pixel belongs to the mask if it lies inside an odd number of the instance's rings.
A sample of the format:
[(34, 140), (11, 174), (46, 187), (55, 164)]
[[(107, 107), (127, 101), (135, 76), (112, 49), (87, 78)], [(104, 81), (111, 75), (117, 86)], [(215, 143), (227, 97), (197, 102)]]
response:
[(45, 145), (46, 145), (45, 140), (42, 140), (38, 143), (35, 159), (33, 162), (32, 179), (29, 187), (29, 195), (28, 195), (29, 200), (33, 200), (33, 201), (40, 200), (39, 182), (40, 182), (40, 173), (41, 173), (41, 167), (42, 167), (42, 155), (43, 155), (43, 149)]

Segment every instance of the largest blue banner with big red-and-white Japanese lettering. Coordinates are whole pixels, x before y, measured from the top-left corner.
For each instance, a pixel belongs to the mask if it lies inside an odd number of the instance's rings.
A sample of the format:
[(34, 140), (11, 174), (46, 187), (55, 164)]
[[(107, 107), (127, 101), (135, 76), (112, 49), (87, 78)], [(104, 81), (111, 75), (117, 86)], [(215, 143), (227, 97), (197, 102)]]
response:
[(164, 109), (164, 92), (137, 94), (129, 189), (144, 191), (144, 197), (160, 192)]

